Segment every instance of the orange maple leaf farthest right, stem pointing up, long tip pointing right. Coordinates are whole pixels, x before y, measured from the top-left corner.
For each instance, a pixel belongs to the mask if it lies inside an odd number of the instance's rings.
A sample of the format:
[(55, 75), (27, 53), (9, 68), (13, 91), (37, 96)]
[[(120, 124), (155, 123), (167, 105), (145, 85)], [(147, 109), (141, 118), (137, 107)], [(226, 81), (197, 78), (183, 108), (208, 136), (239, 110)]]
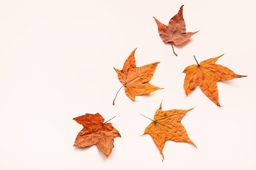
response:
[(198, 61), (196, 61), (197, 64), (190, 65), (185, 68), (183, 72), (186, 73), (184, 79), (184, 90), (186, 95), (193, 92), (195, 87), (199, 86), (202, 92), (209, 99), (211, 99), (216, 105), (221, 107), (216, 82), (246, 77), (238, 75), (232, 70), (229, 70), (229, 68), (226, 68), (222, 65), (215, 64), (215, 62), (221, 56), (207, 59), (205, 61), (202, 61), (200, 64), (198, 64)]

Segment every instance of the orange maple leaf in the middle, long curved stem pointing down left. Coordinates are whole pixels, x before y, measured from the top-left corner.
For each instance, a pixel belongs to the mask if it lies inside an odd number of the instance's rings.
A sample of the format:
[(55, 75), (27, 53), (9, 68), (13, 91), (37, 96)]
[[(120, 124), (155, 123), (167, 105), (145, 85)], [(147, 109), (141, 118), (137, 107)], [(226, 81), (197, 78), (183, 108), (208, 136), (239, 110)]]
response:
[[(136, 49), (137, 48), (135, 48), (135, 50)], [(126, 61), (124, 62), (124, 66), (122, 70), (118, 70), (114, 68), (115, 71), (117, 72), (119, 81), (124, 86), (126, 95), (132, 101), (135, 101), (135, 96), (138, 96), (141, 94), (148, 94), (158, 89), (163, 89), (148, 83), (152, 78), (155, 72), (155, 69), (157, 68), (157, 64), (160, 62), (155, 62), (155, 63), (144, 65), (141, 67), (136, 67), (136, 62), (134, 57), (135, 50), (132, 51), (128, 59), (126, 59)], [(117, 95), (115, 96), (115, 98), (116, 97)], [(114, 102), (115, 102), (115, 99), (113, 101), (113, 105), (115, 105)]]

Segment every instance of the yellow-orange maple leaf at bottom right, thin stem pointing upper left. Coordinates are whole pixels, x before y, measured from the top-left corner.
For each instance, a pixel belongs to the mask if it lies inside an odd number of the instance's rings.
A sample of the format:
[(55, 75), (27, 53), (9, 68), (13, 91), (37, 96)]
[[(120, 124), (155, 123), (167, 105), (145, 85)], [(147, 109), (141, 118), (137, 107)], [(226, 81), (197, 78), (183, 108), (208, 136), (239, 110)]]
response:
[[(192, 109), (172, 109), (162, 111), (161, 102), (159, 109), (157, 109), (157, 111), (155, 112), (154, 120), (152, 120), (153, 122), (151, 122), (146, 127), (143, 135), (145, 135), (146, 133), (151, 135), (153, 141), (155, 142), (157, 148), (160, 151), (160, 154), (163, 157), (162, 161), (164, 161), (164, 154), (162, 153), (162, 151), (166, 140), (172, 140), (175, 142), (188, 142), (195, 146), (194, 142), (192, 142), (189, 138), (186, 129), (180, 122), (183, 116)], [(195, 146), (195, 148), (197, 147)]]

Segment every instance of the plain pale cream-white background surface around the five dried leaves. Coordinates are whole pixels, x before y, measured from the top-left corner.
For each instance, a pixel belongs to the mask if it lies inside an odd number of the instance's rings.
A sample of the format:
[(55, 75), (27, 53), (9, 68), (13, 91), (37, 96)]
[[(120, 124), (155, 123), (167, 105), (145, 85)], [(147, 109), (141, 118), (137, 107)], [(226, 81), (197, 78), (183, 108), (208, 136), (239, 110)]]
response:
[[(168, 24), (184, 4), (181, 46), (165, 44), (152, 17)], [(255, 1), (8, 0), (0, 2), (1, 170), (254, 170)], [(132, 102), (113, 67), (137, 48), (137, 67), (159, 61), (150, 83), (164, 87)], [(197, 88), (187, 97), (184, 68), (225, 53), (216, 63), (248, 75), (218, 84), (217, 107)], [(198, 149), (167, 141), (164, 162), (143, 134), (162, 109), (190, 109), (182, 119)], [(106, 158), (96, 146), (73, 147), (73, 118), (99, 112), (121, 134)]]

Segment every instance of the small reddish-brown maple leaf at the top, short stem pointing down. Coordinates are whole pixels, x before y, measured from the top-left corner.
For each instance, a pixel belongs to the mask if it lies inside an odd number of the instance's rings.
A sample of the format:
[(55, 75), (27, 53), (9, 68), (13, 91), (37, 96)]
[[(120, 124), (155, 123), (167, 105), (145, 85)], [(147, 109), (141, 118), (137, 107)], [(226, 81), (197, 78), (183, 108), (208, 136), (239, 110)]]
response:
[[(182, 14), (183, 6), (184, 5), (182, 5), (180, 7), (179, 12), (171, 18), (167, 26), (159, 22), (155, 17), (153, 17), (155, 19), (155, 22), (157, 23), (158, 32), (161, 39), (165, 43), (171, 42), (172, 48), (173, 48), (173, 44), (175, 46), (180, 45), (183, 42), (187, 41), (192, 35), (194, 35), (195, 33), (198, 33), (198, 31), (193, 33), (191, 32), (186, 33), (186, 24)], [(173, 53), (176, 56), (178, 55), (174, 52), (174, 49), (173, 49)]]

